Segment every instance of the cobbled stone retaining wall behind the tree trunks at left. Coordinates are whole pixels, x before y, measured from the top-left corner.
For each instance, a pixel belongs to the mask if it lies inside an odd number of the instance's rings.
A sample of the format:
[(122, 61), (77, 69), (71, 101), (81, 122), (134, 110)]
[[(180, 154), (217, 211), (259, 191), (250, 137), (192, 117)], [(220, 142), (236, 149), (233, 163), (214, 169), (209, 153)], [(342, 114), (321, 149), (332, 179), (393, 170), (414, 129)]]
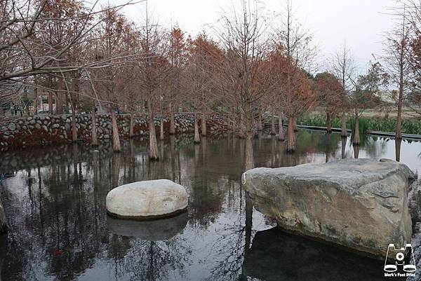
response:
[[(117, 115), (117, 125), (120, 136), (129, 137), (130, 115)], [(199, 123), (200, 124), (200, 123)], [(110, 114), (96, 116), (98, 139), (112, 139), (112, 123)], [(155, 119), (156, 132), (159, 134), (161, 121)], [(169, 118), (163, 119), (164, 132), (168, 135), (170, 128)], [(208, 122), (208, 130), (218, 130), (220, 125)], [(91, 114), (76, 115), (76, 130), (78, 140), (89, 142), (91, 140)], [(192, 132), (194, 130), (193, 114), (175, 114), (175, 133)], [(134, 125), (135, 136), (147, 136), (148, 117), (136, 116)], [(0, 150), (17, 149), (29, 146), (44, 146), (47, 144), (64, 144), (72, 141), (72, 115), (58, 116), (29, 116), (15, 118), (8, 123), (0, 125)]]

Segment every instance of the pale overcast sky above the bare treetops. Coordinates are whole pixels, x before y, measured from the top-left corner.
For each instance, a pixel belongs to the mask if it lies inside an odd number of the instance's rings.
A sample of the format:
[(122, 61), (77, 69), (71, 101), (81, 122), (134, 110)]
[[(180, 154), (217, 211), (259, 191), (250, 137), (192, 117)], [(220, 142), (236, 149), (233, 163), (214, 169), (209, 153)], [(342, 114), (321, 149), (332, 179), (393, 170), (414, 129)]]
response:
[[(107, 0), (103, 0), (107, 1)], [(124, 0), (108, 0), (121, 4)], [(188, 34), (195, 36), (214, 24), (220, 18), (220, 10), (231, 0), (148, 0), (154, 16), (163, 26), (178, 24)], [(236, 0), (232, 0), (236, 1)], [(263, 0), (267, 8), (281, 12), (283, 0)], [(366, 69), (373, 55), (382, 54), (382, 41), (385, 32), (393, 25), (386, 14), (387, 7), (394, 6), (395, 0), (294, 0), (293, 7), (297, 18), (312, 34), (314, 43), (319, 46), (320, 69), (336, 50), (347, 45), (352, 50), (359, 69)], [(139, 20), (144, 3), (125, 8), (124, 13), (131, 20)]]

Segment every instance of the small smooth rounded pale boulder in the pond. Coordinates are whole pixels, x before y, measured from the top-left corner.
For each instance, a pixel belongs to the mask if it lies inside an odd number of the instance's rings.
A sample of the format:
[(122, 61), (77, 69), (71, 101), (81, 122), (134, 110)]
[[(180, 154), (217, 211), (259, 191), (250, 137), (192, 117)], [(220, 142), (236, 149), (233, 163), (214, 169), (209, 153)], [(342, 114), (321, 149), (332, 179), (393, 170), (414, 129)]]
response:
[(186, 210), (185, 188), (168, 179), (139, 181), (116, 187), (106, 199), (107, 212), (123, 219), (169, 217)]

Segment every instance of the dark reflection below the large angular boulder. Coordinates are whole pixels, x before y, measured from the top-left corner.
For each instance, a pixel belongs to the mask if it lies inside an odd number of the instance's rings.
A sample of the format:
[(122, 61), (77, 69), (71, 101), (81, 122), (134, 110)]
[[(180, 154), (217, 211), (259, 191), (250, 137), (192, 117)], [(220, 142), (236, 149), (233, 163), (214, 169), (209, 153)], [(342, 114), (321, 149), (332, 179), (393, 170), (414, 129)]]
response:
[(376, 281), (384, 280), (383, 266), (383, 261), (272, 228), (255, 234), (245, 254), (243, 276), (265, 281)]

